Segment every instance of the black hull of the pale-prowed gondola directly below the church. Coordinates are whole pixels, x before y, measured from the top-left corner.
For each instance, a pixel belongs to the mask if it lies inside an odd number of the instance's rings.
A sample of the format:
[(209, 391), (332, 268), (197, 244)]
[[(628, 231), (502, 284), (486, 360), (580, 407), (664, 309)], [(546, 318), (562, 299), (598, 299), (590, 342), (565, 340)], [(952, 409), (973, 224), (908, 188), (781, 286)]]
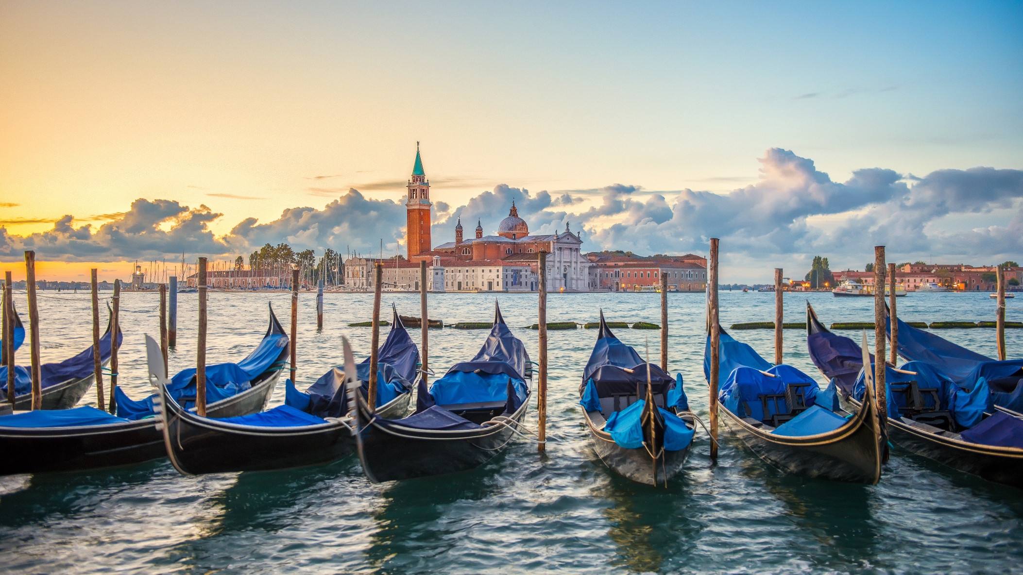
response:
[[(361, 395), (358, 403), (359, 459), (373, 483), (473, 470), (500, 453), (514, 439), (511, 427), (506, 424), (466, 431), (384, 428), (371, 421)], [(529, 398), (509, 417), (521, 424), (528, 406)]]

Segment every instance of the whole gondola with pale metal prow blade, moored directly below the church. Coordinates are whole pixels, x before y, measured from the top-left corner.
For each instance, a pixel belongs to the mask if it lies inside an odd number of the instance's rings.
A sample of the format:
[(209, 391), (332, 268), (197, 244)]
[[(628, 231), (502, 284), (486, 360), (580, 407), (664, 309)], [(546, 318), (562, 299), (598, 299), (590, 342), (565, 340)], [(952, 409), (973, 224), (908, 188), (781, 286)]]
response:
[(357, 396), (359, 459), (380, 483), (475, 469), (517, 435), (529, 406), (529, 354), (494, 304), (487, 341), (470, 361), (456, 363), (428, 390), (416, 388), (415, 412), (401, 419), (371, 413)]

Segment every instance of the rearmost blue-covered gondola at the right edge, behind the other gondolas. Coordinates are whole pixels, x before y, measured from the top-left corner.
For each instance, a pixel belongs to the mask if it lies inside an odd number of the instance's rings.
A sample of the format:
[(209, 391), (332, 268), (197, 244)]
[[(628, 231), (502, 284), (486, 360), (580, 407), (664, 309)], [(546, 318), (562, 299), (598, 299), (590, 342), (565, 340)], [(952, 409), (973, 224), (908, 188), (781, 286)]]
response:
[[(885, 313), (885, 328), (891, 339), (891, 316)], [(995, 409), (1023, 416), (1023, 359), (997, 361), (958, 346), (940, 336), (914, 327), (896, 318), (896, 351), (906, 361), (923, 361), (959, 387), (972, 390), (987, 382)]]

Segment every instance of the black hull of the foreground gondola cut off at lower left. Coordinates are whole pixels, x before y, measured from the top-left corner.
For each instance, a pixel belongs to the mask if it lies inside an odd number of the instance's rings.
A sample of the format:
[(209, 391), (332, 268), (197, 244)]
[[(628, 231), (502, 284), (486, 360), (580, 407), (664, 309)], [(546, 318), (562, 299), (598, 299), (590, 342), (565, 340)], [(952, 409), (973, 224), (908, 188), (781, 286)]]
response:
[[(271, 371), (251, 389), (211, 403), (213, 417), (233, 417), (262, 410), (280, 377)], [(0, 419), (2, 423), (2, 419)], [(0, 475), (66, 472), (126, 466), (167, 455), (157, 419), (77, 428), (0, 427)]]

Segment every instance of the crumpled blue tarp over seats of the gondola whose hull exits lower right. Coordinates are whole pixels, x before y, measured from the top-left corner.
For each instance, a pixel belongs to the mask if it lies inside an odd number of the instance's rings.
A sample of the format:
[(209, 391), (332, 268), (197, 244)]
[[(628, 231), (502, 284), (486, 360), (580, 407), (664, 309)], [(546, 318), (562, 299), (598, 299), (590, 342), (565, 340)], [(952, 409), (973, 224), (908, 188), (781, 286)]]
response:
[[(885, 386), (888, 388), (888, 416), (897, 419), (901, 416), (898, 412), (900, 407), (905, 407), (905, 394), (897, 393), (905, 390), (907, 382), (916, 381), (917, 387), (921, 390), (938, 390), (940, 408), (942, 411), (949, 411), (955, 418), (957, 425), (961, 428), (969, 429), (980, 423), (984, 416), (984, 411), (992, 409), (991, 394), (988, 392), (987, 383), (981, 380), (972, 391), (966, 391), (953, 384), (948, 379), (941, 375), (929, 363), (921, 361), (909, 361), (900, 367), (905, 371), (916, 371), (917, 374), (900, 373), (890, 366), (885, 368)], [(874, 369), (874, 366), (871, 366)], [(853, 397), (862, 400), (864, 392), (864, 377), (860, 371), (853, 388)], [(922, 394), (927, 407), (936, 407), (934, 398), (930, 393)]]

